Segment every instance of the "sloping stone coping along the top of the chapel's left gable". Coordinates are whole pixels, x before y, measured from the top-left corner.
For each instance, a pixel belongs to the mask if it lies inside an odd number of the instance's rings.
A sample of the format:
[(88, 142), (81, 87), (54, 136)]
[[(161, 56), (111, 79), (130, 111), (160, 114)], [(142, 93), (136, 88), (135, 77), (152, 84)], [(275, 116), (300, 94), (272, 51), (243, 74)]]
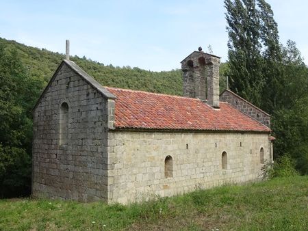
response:
[(53, 77), (51, 77), (49, 83), (47, 84), (47, 86), (45, 87), (44, 91), (40, 95), (40, 98), (38, 99), (38, 102), (34, 106), (33, 111), (35, 111), (36, 107), (38, 107), (38, 104), (42, 100), (44, 94), (49, 89), (51, 83), (53, 83), (55, 77), (57, 77), (57, 74), (61, 70), (63, 65), (66, 65), (66, 66), (68, 66), (68, 68), (73, 70), (73, 72), (75, 72), (79, 77), (81, 77), (81, 79), (84, 79), (84, 81), (86, 81), (90, 86), (92, 86), (95, 90), (97, 90), (97, 92), (101, 93), (101, 95), (104, 98), (110, 98), (110, 99), (115, 99), (116, 98), (116, 96), (114, 96), (114, 94), (112, 94), (108, 90), (106, 90), (98, 81), (96, 81), (88, 73), (86, 73), (84, 70), (82, 70), (77, 64), (75, 64), (75, 62), (64, 59), (61, 62), (61, 64), (57, 67), (57, 70), (55, 70), (55, 73), (53, 74)]

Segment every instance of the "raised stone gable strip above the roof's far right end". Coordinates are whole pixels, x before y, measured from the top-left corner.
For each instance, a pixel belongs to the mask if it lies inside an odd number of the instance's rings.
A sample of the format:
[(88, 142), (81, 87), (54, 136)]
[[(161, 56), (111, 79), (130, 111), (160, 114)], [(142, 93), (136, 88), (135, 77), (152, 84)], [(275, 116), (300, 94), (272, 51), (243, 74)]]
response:
[(239, 111), (244, 112), (251, 118), (259, 121), (261, 124), (270, 127), (270, 115), (268, 115), (268, 113), (262, 111), (261, 109), (255, 107), (237, 94), (234, 94), (229, 90), (224, 90), (224, 92), (222, 92), (222, 94), (220, 95), (220, 100), (231, 104), (233, 107), (235, 107)]

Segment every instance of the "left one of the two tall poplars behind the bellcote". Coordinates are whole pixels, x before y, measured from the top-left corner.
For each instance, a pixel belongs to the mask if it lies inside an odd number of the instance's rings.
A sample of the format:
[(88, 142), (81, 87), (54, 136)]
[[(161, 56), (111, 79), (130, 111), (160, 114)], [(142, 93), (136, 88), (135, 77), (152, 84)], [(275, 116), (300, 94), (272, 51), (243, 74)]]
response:
[(259, 52), (259, 12), (254, 1), (225, 0), (229, 34), (229, 85), (240, 96), (259, 105), (262, 59)]

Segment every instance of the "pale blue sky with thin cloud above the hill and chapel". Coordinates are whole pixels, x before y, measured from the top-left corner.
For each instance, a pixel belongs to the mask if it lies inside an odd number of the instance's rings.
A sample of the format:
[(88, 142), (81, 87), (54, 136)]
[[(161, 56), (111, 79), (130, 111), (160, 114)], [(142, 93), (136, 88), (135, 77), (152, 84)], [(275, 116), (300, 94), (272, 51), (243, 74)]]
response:
[[(308, 64), (308, 1), (268, 0), (281, 43), (294, 40)], [(222, 0), (0, 0), (0, 38), (86, 56), (105, 65), (181, 68), (198, 46), (227, 60)]]

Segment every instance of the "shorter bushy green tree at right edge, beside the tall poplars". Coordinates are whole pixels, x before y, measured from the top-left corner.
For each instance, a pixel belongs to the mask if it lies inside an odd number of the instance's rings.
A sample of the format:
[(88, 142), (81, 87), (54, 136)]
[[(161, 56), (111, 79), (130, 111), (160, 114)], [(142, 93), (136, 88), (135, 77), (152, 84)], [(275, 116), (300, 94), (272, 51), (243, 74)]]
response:
[(295, 42), (288, 40), (281, 52), (281, 79), (273, 90), (272, 129), (279, 137), (274, 151), (290, 154), (300, 172), (308, 174), (308, 68)]

